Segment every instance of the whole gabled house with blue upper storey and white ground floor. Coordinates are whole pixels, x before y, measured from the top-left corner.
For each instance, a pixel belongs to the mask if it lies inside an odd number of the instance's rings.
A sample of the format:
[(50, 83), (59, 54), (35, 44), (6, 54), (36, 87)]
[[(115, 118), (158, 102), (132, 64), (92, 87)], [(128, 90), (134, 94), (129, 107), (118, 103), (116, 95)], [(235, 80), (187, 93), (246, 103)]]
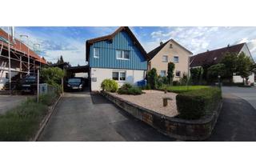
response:
[(147, 70), (147, 54), (127, 26), (113, 34), (86, 41), (86, 61), (89, 65), (90, 90), (100, 90), (104, 79), (110, 78), (119, 86), (129, 82), (136, 85)]

